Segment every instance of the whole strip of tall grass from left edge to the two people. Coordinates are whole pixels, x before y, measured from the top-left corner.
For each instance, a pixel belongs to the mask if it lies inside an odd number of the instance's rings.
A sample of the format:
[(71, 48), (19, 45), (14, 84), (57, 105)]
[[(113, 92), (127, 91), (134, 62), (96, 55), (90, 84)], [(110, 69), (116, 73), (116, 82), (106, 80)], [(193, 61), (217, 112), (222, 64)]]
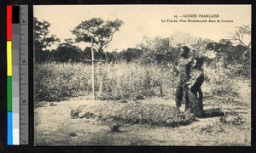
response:
[[(137, 94), (160, 95), (160, 86), (165, 94), (172, 94), (168, 88), (174, 87), (177, 79), (172, 70), (172, 65), (97, 64), (96, 94), (104, 99), (131, 99)], [(60, 101), (91, 94), (91, 90), (91, 65), (34, 65), (35, 101)]]

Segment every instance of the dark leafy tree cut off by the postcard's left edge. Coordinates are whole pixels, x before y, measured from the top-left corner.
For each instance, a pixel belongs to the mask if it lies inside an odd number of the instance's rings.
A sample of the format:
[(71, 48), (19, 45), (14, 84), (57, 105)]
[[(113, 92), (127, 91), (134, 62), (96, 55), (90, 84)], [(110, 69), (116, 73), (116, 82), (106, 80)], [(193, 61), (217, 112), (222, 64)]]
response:
[(46, 51), (49, 52), (48, 48), (60, 40), (55, 35), (49, 36), (50, 24), (48, 21), (39, 21), (34, 17), (33, 26), (35, 61), (43, 62), (49, 59), (50, 54), (45, 56)]

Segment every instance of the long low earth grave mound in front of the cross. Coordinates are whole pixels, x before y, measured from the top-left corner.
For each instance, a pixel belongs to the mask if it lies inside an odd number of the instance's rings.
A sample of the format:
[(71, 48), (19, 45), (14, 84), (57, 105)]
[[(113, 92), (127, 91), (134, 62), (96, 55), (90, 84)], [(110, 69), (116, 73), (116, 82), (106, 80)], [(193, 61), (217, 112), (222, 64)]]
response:
[(73, 118), (96, 118), (107, 124), (143, 124), (160, 127), (177, 127), (196, 121), (195, 116), (170, 105), (139, 102), (110, 102), (104, 105), (80, 105), (71, 111)]

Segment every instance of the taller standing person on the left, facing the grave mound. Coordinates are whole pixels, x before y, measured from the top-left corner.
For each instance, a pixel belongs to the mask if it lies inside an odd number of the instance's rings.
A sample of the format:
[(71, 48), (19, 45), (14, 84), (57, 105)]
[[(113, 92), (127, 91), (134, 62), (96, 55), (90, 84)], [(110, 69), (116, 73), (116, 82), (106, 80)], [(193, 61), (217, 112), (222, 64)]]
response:
[(183, 46), (183, 51), (181, 54), (181, 59), (178, 64), (179, 71), (179, 82), (176, 89), (176, 107), (180, 110), (183, 96), (185, 98), (185, 111), (189, 111), (189, 88), (187, 82), (190, 79), (190, 69), (192, 64), (192, 59), (189, 58), (190, 49), (187, 46)]

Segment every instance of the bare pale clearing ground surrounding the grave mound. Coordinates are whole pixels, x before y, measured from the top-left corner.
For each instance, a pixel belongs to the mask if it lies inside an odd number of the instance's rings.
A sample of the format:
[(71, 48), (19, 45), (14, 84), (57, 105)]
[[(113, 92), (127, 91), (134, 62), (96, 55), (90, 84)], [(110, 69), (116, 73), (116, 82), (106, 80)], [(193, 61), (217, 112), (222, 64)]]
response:
[[(40, 102), (34, 110), (35, 145), (248, 146), (251, 145), (251, 87), (248, 82), (239, 82), (237, 85), (237, 99), (205, 96), (204, 108), (221, 108), (227, 116), (224, 120), (220, 117), (200, 118), (197, 122), (179, 127), (136, 124), (121, 126), (119, 132), (112, 132), (96, 119), (72, 119), (70, 111), (80, 105), (109, 105), (116, 102), (92, 101), (86, 96), (54, 102), (55, 105)], [(154, 98), (140, 102), (175, 106), (173, 99)]]

